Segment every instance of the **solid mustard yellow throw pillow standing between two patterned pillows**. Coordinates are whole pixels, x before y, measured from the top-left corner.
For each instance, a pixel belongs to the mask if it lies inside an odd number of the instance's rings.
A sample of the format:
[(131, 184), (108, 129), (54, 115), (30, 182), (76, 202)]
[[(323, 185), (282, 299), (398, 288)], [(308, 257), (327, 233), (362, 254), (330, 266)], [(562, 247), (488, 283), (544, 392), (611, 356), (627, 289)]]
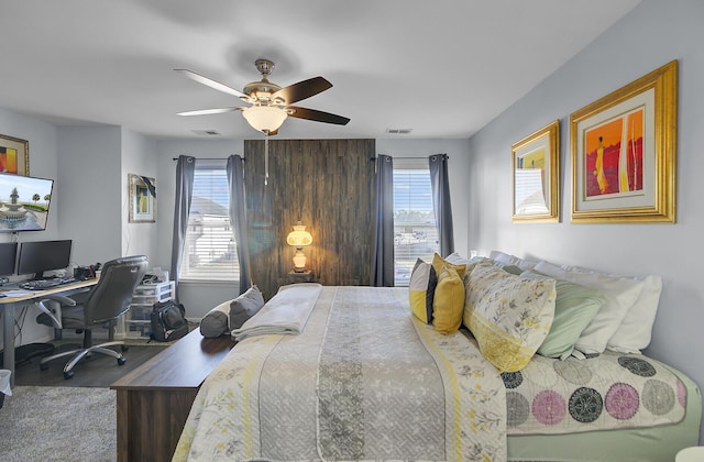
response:
[(446, 334), (460, 329), (464, 310), (464, 282), (452, 266), (442, 266), (432, 301), (432, 326)]

